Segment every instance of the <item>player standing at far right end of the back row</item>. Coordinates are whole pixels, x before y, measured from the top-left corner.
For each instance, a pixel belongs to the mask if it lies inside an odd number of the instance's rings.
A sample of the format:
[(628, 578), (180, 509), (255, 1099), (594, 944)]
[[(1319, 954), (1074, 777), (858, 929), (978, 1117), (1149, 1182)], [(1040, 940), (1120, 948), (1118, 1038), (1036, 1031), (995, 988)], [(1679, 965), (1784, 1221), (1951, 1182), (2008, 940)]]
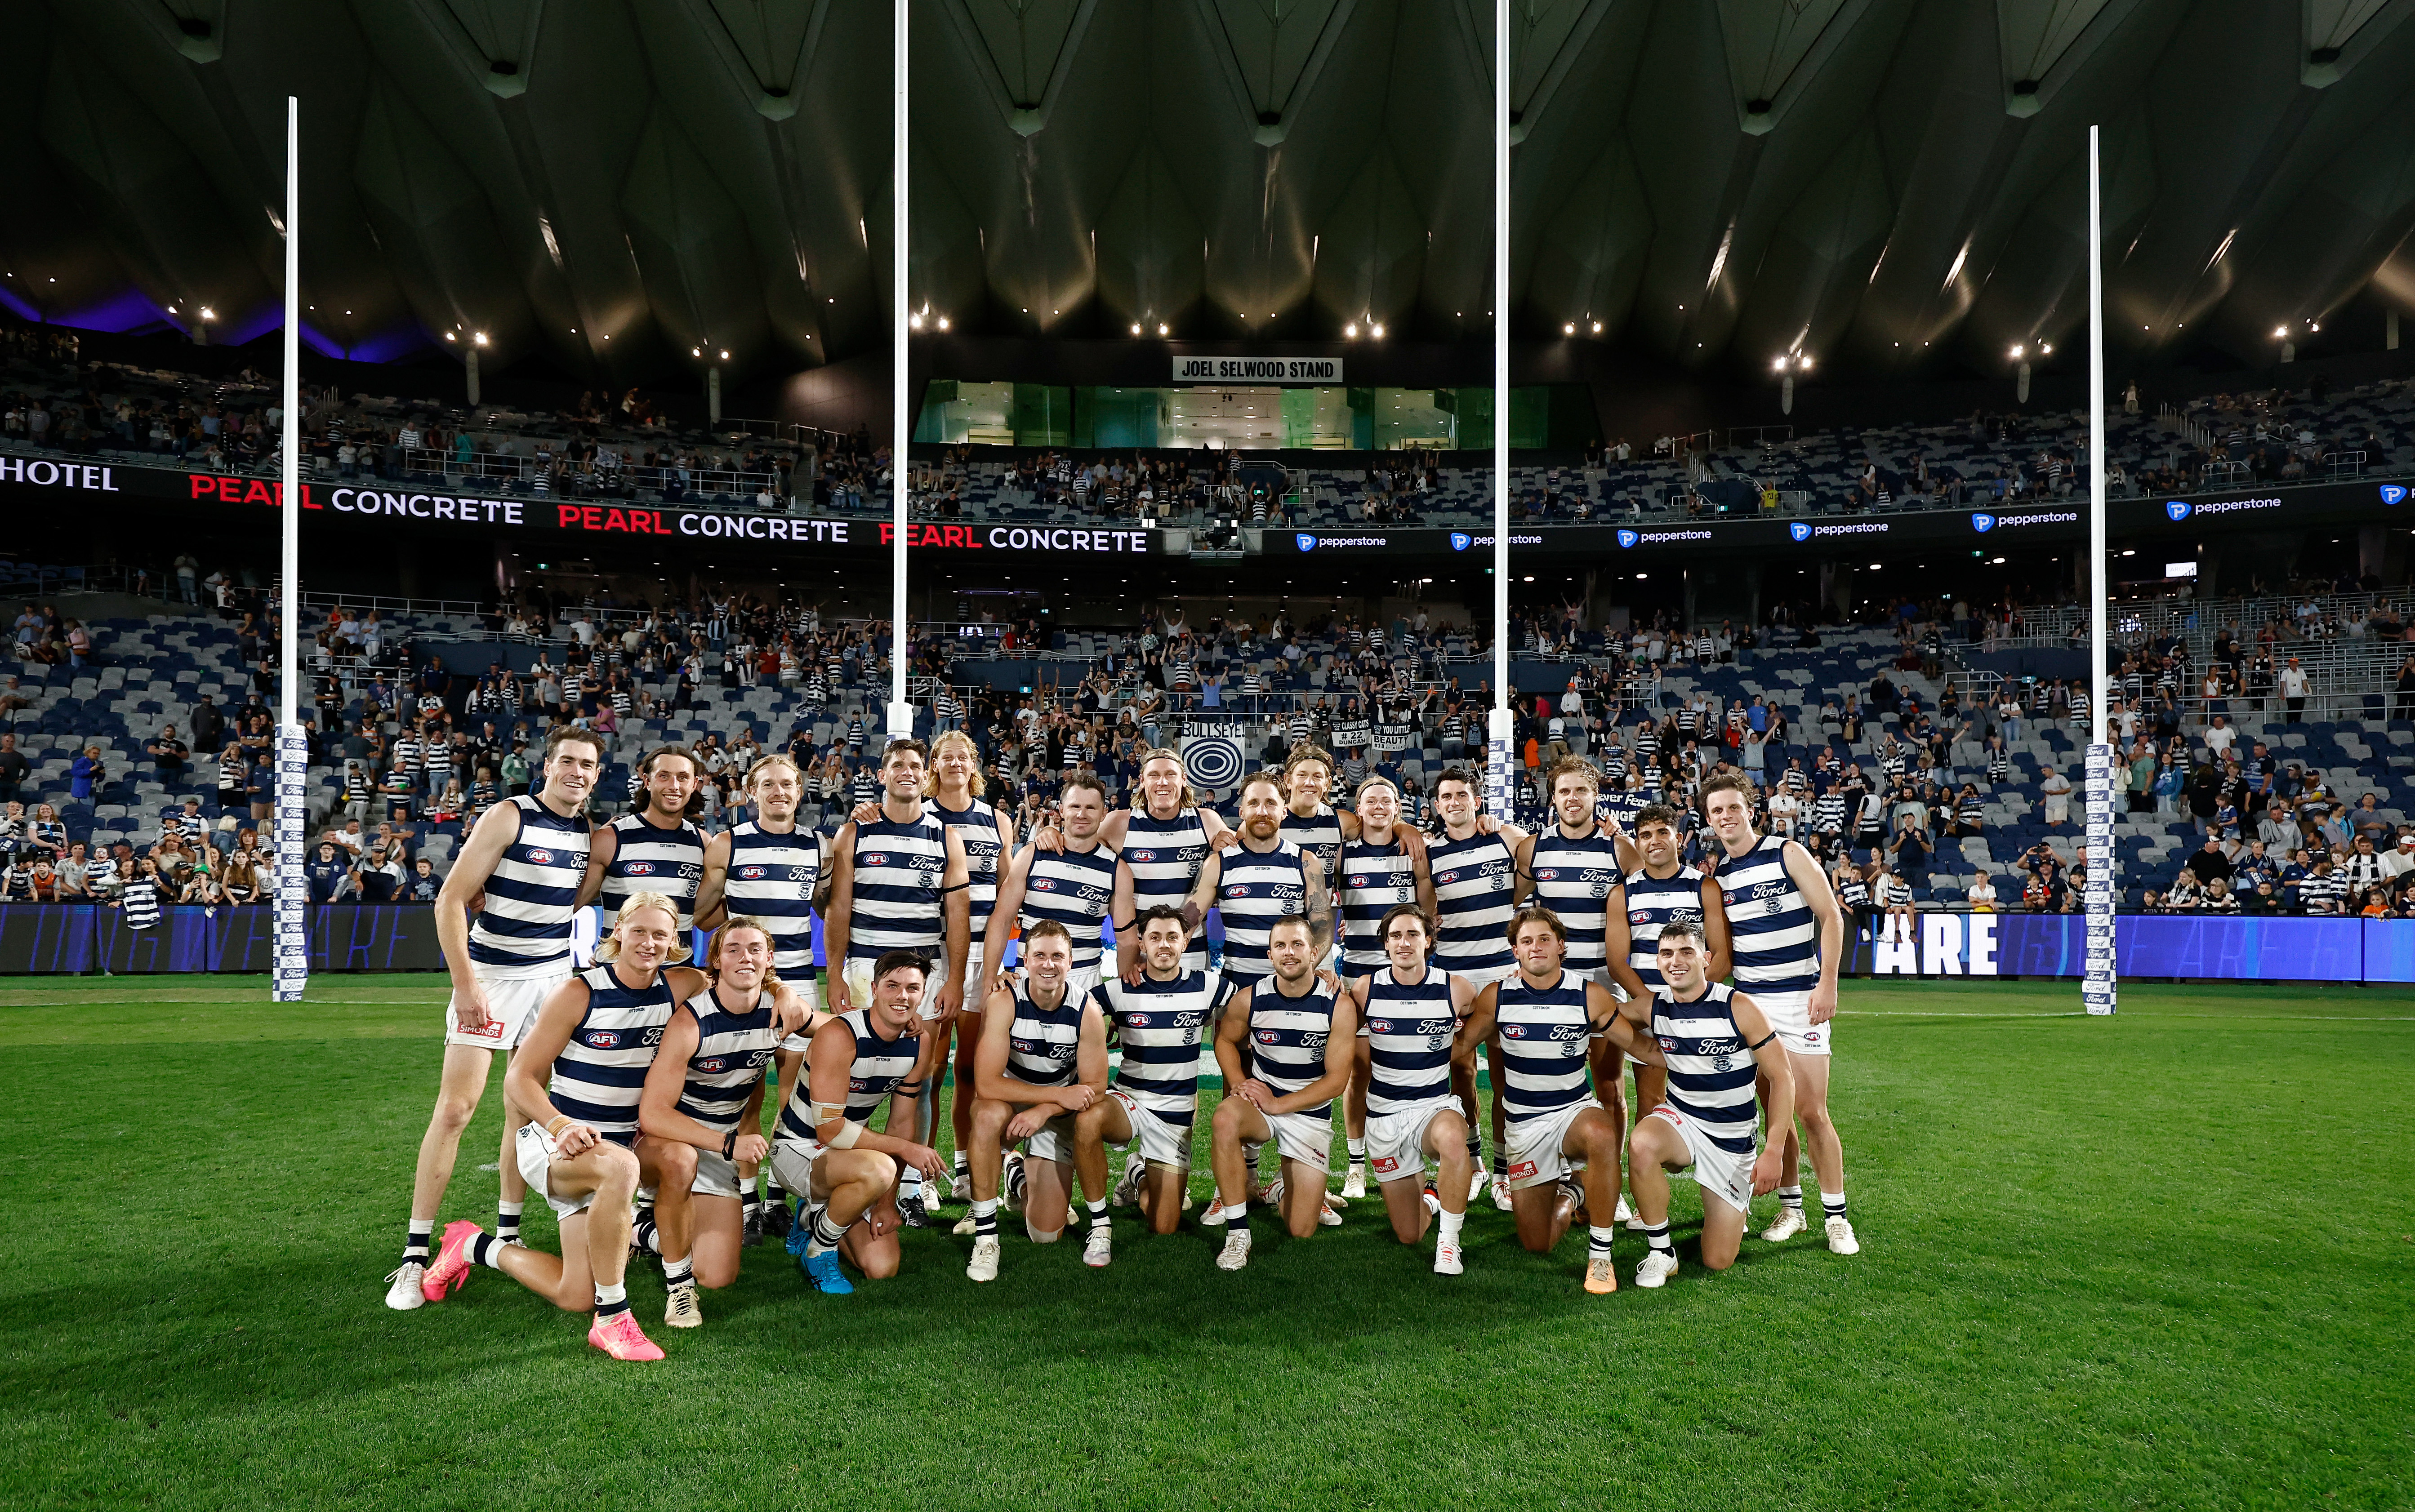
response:
[(1703, 816), (1719, 838), (1712, 882), (1727, 908), (1736, 988), (1787, 1046), (1794, 1072), (1794, 1128), (1785, 1130), (1777, 1222), (1761, 1232), (1777, 1244), (1804, 1232), (1802, 1150), (1811, 1152), (1828, 1249), (1862, 1254), (1845, 1217), (1845, 1145), (1828, 1121), (1828, 1065), (1835, 1019), (1835, 971), (1845, 954), (1845, 918), (1818, 862), (1794, 841), (1753, 831), (1753, 780), (1715, 773), (1703, 783)]

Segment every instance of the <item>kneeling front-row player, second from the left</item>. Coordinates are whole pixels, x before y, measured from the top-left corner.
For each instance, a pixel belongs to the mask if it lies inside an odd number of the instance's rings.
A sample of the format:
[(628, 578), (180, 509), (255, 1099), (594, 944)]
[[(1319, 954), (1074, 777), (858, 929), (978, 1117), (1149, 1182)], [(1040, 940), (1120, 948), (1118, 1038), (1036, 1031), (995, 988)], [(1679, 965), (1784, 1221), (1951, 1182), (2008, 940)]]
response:
[[(739, 915), (705, 949), (710, 990), (679, 1005), (662, 1053), (645, 1072), (638, 1128), (659, 1145), (662, 1186), (638, 1220), (638, 1249), (662, 1256), (669, 1292), (662, 1321), (705, 1321), (696, 1287), (739, 1278), (746, 1186), (770, 1152), (763, 1138), (763, 1068), (782, 1034), (804, 1024), (804, 1002), (770, 969), (770, 930)], [(811, 1034), (811, 1027), (807, 1027)]]

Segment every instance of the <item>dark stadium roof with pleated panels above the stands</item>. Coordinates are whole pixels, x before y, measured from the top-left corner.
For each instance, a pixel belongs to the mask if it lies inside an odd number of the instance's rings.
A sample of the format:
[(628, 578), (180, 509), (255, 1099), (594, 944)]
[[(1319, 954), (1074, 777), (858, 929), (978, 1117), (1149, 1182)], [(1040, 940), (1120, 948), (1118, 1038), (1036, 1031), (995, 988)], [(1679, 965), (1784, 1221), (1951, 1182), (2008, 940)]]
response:
[[(1748, 372), (2084, 331), (2084, 133), (2132, 353), (2415, 302), (2408, 0), (1517, 0), (1517, 331)], [(881, 350), (886, 7), (14, 5), (0, 292), (652, 382)], [(968, 333), (1478, 341), (1490, 5), (918, 0), (918, 304)], [(2367, 341), (2369, 343), (2369, 341)], [(2321, 341), (2316, 338), (2316, 345)]]

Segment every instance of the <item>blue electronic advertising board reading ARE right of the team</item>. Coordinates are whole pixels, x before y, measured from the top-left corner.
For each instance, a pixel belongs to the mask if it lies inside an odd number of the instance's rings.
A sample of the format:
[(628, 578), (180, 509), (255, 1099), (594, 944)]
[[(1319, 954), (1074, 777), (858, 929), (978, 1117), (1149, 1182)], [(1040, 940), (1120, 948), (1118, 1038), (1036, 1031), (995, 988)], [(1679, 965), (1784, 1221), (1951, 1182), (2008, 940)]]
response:
[[(1852, 925), (1850, 976), (2087, 976), (2084, 913), (1922, 913), (1913, 940)], [(2415, 920), (2190, 918), (2113, 920), (2118, 976), (2207, 981), (2415, 981)]]

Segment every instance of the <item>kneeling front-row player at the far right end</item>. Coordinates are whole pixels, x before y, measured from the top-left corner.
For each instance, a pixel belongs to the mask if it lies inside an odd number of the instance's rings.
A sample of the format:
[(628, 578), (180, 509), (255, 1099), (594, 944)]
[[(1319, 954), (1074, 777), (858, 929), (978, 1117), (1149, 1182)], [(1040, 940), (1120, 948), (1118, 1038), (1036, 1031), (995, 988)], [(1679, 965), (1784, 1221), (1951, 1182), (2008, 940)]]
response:
[(1744, 993), (1703, 976), (1710, 949), (1703, 925), (1681, 918), (1662, 925), (1662, 985), (1652, 998), (1652, 1039), (1669, 1063), (1669, 1092), (1635, 1121), (1628, 1167), (1635, 1212), (1652, 1254), (1635, 1268), (1635, 1285), (1657, 1287), (1676, 1275), (1669, 1244), (1669, 1171), (1693, 1167), (1703, 1188), (1703, 1266), (1727, 1270), (1744, 1244), (1753, 1196), (1777, 1191), (1782, 1138), (1753, 1157), (1753, 1077), (1770, 1077), (1770, 1128), (1794, 1128), (1794, 1075), (1787, 1048)]

